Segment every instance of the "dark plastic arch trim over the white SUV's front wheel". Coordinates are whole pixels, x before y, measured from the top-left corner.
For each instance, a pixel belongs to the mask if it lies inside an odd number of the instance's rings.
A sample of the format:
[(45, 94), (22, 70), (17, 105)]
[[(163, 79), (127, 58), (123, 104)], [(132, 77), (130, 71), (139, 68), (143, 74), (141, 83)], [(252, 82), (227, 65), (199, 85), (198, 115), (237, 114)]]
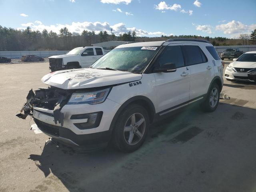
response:
[(114, 118), (112, 119), (112, 122), (110, 124), (110, 131), (114, 129), (114, 126), (116, 124), (116, 120), (118, 119), (118, 116), (121, 114), (121, 112), (126, 108), (126, 106), (130, 104), (138, 104), (146, 109), (148, 112), (150, 123), (153, 122), (154, 116), (156, 114), (156, 110), (154, 107), (153, 102), (147, 98), (146, 96), (134, 96), (130, 99), (128, 99), (126, 102), (124, 102), (120, 108), (117, 110), (116, 114), (114, 115)]

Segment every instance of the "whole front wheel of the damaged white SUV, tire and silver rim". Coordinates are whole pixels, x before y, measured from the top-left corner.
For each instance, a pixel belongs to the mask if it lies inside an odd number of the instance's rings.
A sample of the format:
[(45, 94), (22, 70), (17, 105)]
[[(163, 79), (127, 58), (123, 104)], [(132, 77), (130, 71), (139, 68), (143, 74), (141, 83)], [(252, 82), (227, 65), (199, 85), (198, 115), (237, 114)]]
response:
[(148, 112), (138, 104), (131, 104), (118, 116), (114, 126), (114, 146), (122, 152), (133, 152), (146, 139), (149, 128)]

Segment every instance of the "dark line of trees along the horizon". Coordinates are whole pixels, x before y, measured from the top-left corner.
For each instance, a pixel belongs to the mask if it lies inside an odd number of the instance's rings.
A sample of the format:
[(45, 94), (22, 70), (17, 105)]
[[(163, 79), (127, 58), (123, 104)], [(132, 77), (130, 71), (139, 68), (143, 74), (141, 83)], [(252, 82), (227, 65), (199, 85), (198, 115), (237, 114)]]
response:
[(68, 28), (61, 28), (59, 33), (48, 31), (46, 29), (40, 32), (27, 27), (25, 30), (6, 28), (0, 26), (0, 51), (26, 51), (26, 50), (71, 50), (80, 46), (91, 46), (95, 43), (115, 41), (130, 41), (130, 42), (146, 42), (160, 41), (169, 38), (197, 38), (210, 41), (214, 46), (218, 45), (242, 45), (256, 44), (256, 29), (248, 37), (246, 34), (241, 34), (239, 39), (229, 39), (224, 37), (209, 36), (161, 36), (161, 37), (138, 37), (136, 31), (119, 34), (116, 36), (112, 30), (111, 34), (107, 31), (100, 31), (96, 34), (95, 31), (83, 30), (82, 33), (69, 32)]

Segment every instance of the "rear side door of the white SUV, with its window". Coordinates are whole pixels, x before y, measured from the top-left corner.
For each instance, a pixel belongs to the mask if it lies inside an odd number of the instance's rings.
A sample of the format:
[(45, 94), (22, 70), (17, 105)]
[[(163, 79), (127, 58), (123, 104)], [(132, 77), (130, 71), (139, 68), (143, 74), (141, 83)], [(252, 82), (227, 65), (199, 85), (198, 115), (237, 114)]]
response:
[(190, 68), (191, 72), (189, 99), (200, 98), (208, 92), (212, 81), (213, 62), (208, 61), (199, 44), (183, 43), (182, 45), (186, 66)]

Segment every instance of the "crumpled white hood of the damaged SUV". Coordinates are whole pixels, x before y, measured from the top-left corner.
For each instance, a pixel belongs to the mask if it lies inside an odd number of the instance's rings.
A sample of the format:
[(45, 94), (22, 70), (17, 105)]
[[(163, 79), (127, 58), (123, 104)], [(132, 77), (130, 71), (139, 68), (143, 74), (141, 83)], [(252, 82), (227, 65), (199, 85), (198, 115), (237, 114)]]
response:
[(42, 82), (62, 89), (82, 89), (138, 81), (142, 74), (93, 68), (62, 70), (49, 73)]

